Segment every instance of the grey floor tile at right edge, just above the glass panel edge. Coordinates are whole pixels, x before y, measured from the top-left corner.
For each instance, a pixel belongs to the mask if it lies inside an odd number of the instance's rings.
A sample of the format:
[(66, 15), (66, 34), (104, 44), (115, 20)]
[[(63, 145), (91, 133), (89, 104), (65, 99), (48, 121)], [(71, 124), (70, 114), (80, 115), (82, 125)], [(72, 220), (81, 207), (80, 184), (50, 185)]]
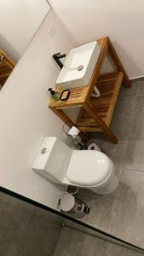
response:
[(108, 233), (144, 248), (144, 208), (116, 201)]

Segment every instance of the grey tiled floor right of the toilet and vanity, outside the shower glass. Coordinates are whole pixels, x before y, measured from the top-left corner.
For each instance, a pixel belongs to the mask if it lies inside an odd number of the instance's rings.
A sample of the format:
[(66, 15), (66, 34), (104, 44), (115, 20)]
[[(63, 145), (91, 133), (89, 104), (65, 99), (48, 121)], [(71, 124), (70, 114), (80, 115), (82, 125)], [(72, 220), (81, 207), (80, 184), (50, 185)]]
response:
[(78, 196), (90, 207), (83, 221), (144, 248), (144, 82), (121, 88), (111, 127), (118, 145), (95, 134), (91, 142), (114, 161), (118, 189), (111, 195), (80, 189)]

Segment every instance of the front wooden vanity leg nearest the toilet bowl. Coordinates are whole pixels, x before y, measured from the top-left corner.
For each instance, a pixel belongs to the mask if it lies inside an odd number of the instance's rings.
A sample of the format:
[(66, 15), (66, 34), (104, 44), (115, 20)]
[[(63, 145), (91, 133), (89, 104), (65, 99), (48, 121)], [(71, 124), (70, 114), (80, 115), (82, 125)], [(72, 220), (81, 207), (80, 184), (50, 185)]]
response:
[(112, 143), (117, 144), (118, 143), (118, 137), (114, 135), (114, 133), (108, 128), (108, 126), (105, 124), (105, 122), (100, 118), (100, 116), (95, 113), (95, 110), (93, 109), (92, 105), (87, 102), (84, 103), (83, 108), (86, 110), (87, 113), (92, 117), (92, 119), (95, 120), (95, 123), (100, 125), (101, 130), (107, 135), (107, 137), (110, 138)]

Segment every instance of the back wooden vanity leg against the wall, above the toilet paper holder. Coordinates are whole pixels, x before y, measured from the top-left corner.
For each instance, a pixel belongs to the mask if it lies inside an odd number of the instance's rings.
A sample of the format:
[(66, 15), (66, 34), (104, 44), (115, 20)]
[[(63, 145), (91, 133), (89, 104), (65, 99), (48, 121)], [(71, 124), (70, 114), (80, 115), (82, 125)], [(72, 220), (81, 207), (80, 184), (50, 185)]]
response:
[[(72, 119), (70, 119), (66, 113), (64, 113), (61, 109), (57, 109), (57, 108), (52, 108), (49, 107), (66, 125), (68, 125), (70, 128), (72, 126), (76, 126), (77, 125), (72, 121)], [(80, 128), (78, 127), (78, 129), (80, 130)], [(80, 131), (79, 136), (83, 139), (84, 142), (88, 142), (88, 137), (86, 137), (84, 135), (84, 132)]]

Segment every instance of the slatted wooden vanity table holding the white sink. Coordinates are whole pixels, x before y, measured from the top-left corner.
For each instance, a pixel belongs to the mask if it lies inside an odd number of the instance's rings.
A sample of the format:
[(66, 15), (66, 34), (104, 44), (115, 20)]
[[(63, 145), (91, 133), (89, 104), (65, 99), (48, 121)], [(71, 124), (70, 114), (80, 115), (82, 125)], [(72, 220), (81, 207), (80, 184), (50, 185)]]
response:
[[(124, 67), (118, 58), (110, 39), (101, 38), (96, 40), (101, 48), (95, 70), (92, 74), (89, 84), (70, 89), (69, 98), (62, 102), (55, 102), (51, 99), (49, 108), (69, 127), (77, 126), (84, 134), (85, 132), (102, 131), (110, 138), (112, 143), (118, 143), (118, 137), (110, 130), (109, 126), (112, 120), (112, 113), (118, 97), (120, 85), (123, 82), (127, 88), (131, 87), (130, 79), (124, 71)], [(107, 53), (117, 67), (116, 73), (107, 73), (100, 75), (101, 66)], [(98, 98), (91, 97), (95, 85), (101, 92)], [(57, 86), (57, 90), (60, 87)], [(70, 119), (63, 108), (81, 107), (78, 113), (76, 123)]]

